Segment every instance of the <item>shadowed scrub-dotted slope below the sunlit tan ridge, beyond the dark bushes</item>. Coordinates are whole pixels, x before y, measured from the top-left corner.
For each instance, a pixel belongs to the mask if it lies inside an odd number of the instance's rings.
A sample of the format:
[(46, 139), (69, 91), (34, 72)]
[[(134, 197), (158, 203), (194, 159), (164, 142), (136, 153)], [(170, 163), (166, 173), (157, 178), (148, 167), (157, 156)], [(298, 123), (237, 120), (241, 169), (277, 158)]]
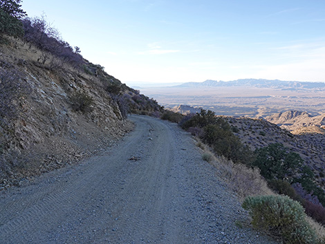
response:
[[(291, 151), (299, 153), (306, 165), (315, 172), (317, 183), (325, 188), (325, 138), (321, 133), (293, 135), (286, 129), (266, 120), (250, 118), (227, 118), (233, 131), (244, 144), (254, 150), (271, 143), (282, 143)], [(310, 128), (310, 127), (308, 127)]]

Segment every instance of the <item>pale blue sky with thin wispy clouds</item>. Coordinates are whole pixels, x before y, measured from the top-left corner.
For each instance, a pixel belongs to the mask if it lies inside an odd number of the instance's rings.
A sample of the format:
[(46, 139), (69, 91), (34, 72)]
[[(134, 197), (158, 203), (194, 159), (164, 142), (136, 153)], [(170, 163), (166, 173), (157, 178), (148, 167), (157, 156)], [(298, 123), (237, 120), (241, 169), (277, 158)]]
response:
[(24, 0), (123, 83), (325, 82), (324, 0)]

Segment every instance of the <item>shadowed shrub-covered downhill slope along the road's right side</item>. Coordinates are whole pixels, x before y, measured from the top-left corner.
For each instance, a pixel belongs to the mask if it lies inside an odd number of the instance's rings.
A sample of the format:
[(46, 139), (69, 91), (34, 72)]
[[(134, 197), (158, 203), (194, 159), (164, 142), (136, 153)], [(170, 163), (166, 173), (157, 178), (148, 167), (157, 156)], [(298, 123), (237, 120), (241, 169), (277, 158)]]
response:
[[(299, 153), (306, 154), (302, 147), (296, 149), (297, 143), (304, 139), (265, 120), (227, 118), (204, 109), (200, 113), (185, 116), (169, 111), (164, 118), (178, 122), (183, 129), (200, 138), (212, 149), (219, 158), (203, 153), (203, 159), (216, 161), (213, 164), (229, 178), (231, 187), (241, 196), (270, 194), (263, 185), (261, 174), (268, 187), (277, 194), (291, 198), (274, 198), (272, 194), (270, 197), (252, 198), (245, 208), (250, 210), (253, 220), (255, 218), (255, 227), (263, 226), (266, 231), (279, 234), (284, 243), (297, 243), (297, 240), (299, 243), (316, 242), (313, 229), (301, 214), (306, 212), (318, 223), (325, 225), (324, 175), (315, 167), (312, 170), (310, 166), (315, 166), (311, 164), (312, 160), (305, 161), (300, 156)], [(198, 147), (205, 150), (201, 142)], [(319, 157), (322, 158), (321, 153)], [(263, 209), (260, 205), (263, 205)], [(273, 212), (275, 208), (272, 205), (278, 205), (279, 209)], [(304, 210), (298, 211), (300, 220), (295, 223), (298, 215), (290, 209), (301, 205)], [(286, 218), (291, 220), (284, 224)], [(296, 224), (302, 229), (298, 231), (297, 228), (295, 234), (291, 230), (289, 233), (288, 229), (281, 229), (284, 225), (290, 225), (290, 229)]]

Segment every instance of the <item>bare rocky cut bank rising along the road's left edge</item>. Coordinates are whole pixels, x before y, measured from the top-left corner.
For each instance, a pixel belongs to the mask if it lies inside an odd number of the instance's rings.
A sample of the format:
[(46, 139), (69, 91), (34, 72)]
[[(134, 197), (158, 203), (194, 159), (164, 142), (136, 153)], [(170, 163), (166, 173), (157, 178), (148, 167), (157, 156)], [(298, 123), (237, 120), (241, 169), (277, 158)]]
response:
[(0, 188), (109, 146), (132, 128), (129, 111), (161, 109), (81, 55), (72, 65), (8, 41), (0, 46)]

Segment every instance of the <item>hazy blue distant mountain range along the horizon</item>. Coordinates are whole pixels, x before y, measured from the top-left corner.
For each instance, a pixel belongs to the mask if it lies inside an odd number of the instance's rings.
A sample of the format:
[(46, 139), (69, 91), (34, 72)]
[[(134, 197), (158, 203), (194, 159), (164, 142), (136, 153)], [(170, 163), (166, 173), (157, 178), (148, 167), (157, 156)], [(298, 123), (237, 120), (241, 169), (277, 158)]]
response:
[(279, 79), (236, 79), (230, 82), (207, 79), (205, 82), (187, 82), (174, 87), (196, 88), (208, 86), (252, 86), (281, 89), (324, 89), (324, 82), (286, 82)]

